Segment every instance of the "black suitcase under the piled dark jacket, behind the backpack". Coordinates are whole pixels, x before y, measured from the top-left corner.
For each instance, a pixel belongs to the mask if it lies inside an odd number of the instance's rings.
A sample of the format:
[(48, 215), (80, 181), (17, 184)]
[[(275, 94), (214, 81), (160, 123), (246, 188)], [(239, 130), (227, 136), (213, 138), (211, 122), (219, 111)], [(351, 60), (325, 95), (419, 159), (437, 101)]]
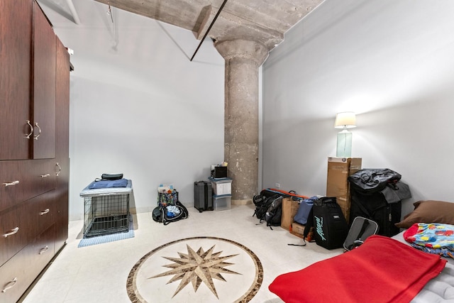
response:
[(350, 188), (350, 225), (357, 216), (362, 216), (378, 224), (378, 234), (392, 237), (399, 233), (399, 227), (395, 226), (400, 221), (402, 214), (402, 201), (388, 203), (382, 192), (363, 194)]

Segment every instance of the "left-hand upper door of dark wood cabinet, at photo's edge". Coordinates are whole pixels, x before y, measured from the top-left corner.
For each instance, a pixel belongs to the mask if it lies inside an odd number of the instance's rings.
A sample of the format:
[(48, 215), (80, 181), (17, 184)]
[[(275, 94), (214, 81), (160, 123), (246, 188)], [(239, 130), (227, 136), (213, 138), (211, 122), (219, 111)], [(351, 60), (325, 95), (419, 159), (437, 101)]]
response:
[[(32, 2), (0, 1), (0, 159), (30, 157)], [(6, 148), (7, 147), (7, 148)]]

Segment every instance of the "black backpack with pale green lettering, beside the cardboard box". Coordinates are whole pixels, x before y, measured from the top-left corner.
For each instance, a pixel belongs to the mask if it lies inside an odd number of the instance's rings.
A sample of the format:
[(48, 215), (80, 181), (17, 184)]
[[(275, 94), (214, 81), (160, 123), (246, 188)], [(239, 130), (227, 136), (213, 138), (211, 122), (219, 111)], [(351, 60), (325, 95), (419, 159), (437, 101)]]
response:
[(348, 223), (336, 197), (322, 197), (312, 206), (314, 238), (326, 249), (342, 248), (348, 234)]

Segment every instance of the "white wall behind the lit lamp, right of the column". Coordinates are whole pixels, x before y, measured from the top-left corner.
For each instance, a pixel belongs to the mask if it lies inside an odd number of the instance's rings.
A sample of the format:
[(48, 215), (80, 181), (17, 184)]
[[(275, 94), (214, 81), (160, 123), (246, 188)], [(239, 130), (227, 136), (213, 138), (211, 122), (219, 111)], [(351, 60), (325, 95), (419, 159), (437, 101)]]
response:
[(454, 2), (326, 0), (263, 65), (263, 187), (326, 194), (336, 113), (353, 157), (402, 174), (413, 197), (454, 202)]

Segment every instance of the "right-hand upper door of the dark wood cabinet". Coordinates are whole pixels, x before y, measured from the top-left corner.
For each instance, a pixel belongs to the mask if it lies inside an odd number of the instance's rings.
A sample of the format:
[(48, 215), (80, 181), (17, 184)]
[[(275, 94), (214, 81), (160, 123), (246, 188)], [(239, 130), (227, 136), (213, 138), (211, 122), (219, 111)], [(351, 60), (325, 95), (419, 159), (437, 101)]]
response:
[(56, 35), (33, 1), (33, 159), (55, 158)]

